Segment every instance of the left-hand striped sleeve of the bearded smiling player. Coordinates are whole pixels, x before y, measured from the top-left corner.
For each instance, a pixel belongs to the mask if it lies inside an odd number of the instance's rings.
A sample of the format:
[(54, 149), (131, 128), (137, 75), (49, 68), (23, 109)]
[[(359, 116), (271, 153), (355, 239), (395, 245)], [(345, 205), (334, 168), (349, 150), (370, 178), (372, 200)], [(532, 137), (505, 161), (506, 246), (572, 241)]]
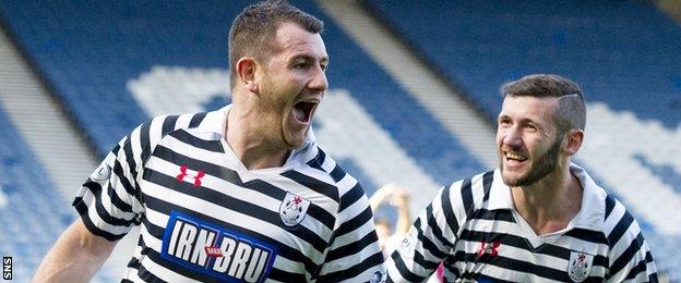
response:
[(443, 187), (414, 222), (407, 235), (386, 260), (389, 282), (422, 282), (450, 256), (466, 221), (458, 192), (461, 183)]

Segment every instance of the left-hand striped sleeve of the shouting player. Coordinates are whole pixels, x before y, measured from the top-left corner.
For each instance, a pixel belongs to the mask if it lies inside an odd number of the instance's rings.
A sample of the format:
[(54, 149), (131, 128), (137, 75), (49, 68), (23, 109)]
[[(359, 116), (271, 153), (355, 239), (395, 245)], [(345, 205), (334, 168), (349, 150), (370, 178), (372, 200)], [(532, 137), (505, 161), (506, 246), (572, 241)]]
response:
[(89, 232), (117, 241), (139, 225), (144, 214), (140, 188), (144, 162), (163, 136), (179, 127), (195, 126), (204, 118), (205, 113), (156, 116), (123, 137), (73, 200)]

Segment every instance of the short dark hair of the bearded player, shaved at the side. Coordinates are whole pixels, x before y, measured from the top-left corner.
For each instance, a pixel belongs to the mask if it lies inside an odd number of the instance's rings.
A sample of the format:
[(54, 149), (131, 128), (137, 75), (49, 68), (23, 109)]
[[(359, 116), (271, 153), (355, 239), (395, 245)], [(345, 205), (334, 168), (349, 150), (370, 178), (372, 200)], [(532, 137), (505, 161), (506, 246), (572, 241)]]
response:
[(569, 78), (553, 74), (526, 75), (521, 79), (506, 83), (501, 93), (504, 97), (533, 96), (557, 97), (558, 109), (553, 119), (558, 133), (564, 134), (569, 130), (586, 127), (586, 104), (582, 89)]

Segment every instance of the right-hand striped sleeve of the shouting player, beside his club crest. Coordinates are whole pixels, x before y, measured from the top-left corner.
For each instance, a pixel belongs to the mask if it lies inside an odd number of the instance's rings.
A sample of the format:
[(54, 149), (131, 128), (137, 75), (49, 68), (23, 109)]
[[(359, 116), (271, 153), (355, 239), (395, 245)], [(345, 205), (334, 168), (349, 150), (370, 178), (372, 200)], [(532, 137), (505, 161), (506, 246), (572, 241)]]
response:
[(383, 255), (369, 199), (351, 176), (346, 174), (339, 184), (337, 224), (316, 281), (383, 282)]

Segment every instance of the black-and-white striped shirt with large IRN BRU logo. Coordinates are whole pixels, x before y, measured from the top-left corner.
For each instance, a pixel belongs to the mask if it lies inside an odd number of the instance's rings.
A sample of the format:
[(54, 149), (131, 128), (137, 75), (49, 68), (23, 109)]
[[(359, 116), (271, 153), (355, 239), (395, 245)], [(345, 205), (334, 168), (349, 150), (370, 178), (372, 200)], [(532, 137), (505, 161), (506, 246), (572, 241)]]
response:
[(247, 170), (223, 138), (228, 111), (151, 120), (77, 193), (93, 234), (116, 241), (140, 225), (123, 281), (384, 279), (358, 182), (311, 133), (283, 167)]

